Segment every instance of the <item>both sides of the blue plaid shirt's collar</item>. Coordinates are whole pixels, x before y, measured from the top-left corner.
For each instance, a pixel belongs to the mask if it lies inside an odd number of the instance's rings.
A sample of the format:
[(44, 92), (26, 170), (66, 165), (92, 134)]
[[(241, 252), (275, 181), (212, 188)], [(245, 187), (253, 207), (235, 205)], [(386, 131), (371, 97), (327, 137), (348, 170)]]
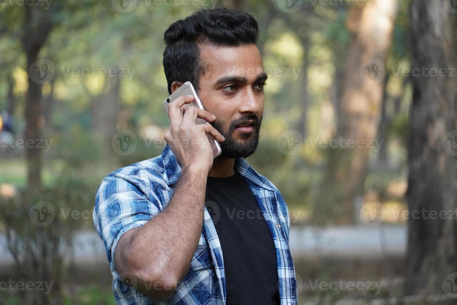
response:
[[(178, 179), (181, 176), (182, 167), (168, 144), (165, 145), (165, 148), (162, 151), (162, 161), (165, 168), (166, 183), (168, 186), (171, 186), (178, 182)], [(243, 158), (235, 159), (234, 168), (239, 172), (241, 177), (244, 177), (259, 187), (274, 191), (274, 188), (270, 186), (266, 178), (260, 176)]]

